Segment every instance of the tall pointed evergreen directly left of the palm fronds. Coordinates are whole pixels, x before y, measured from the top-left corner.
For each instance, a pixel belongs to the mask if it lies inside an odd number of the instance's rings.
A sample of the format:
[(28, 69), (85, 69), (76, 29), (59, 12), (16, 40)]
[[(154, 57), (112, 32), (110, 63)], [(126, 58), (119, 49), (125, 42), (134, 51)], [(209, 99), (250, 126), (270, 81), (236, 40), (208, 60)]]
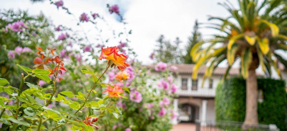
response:
[(192, 61), (190, 56), (190, 51), (194, 44), (201, 40), (201, 33), (198, 32), (198, 22), (195, 20), (192, 35), (188, 38), (188, 44), (186, 46), (186, 55), (183, 57), (184, 63), (186, 64), (194, 64), (195, 62)]

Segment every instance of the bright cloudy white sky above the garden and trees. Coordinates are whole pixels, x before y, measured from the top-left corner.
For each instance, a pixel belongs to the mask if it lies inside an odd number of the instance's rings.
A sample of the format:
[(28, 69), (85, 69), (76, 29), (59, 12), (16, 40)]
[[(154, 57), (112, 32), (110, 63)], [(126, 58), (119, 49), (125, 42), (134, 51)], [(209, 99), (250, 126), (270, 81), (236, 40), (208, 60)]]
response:
[[(55, 26), (65, 25), (74, 30), (85, 32), (91, 43), (99, 43), (95, 36), (99, 34), (93, 25), (81, 23), (76, 26), (80, 14), (86, 12), (99, 13), (107, 20), (106, 23), (99, 22), (98, 28), (102, 29), (101, 36), (103, 40), (112, 37), (112, 29), (116, 34), (123, 31), (123, 25), (119, 23), (119, 17), (115, 14), (109, 14), (106, 4), (119, 5), (120, 13), (126, 18), (127, 31), (132, 30), (128, 36), (131, 41), (130, 46), (138, 54), (137, 59), (143, 64), (150, 64), (152, 60), (149, 55), (156, 48), (156, 40), (162, 34), (166, 40), (174, 41), (179, 37), (182, 41), (181, 48), (187, 44), (188, 37), (191, 35), (194, 21), (199, 23), (209, 22), (208, 16), (220, 16), (226, 18), (228, 12), (218, 2), (225, 0), (63, 0), (64, 6), (69, 8), (75, 17), (68, 15), (62, 9), (57, 9), (55, 5), (49, 4), (49, 1), (32, 3), (30, 0), (0, 0), (0, 10), (28, 10), (32, 15), (43, 12)], [(235, 7), (238, 7), (236, 0), (230, 0)], [(216, 33), (212, 29), (200, 28), (203, 38), (210, 37)], [(116, 46), (120, 40), (110, 40), (107, 46)]]

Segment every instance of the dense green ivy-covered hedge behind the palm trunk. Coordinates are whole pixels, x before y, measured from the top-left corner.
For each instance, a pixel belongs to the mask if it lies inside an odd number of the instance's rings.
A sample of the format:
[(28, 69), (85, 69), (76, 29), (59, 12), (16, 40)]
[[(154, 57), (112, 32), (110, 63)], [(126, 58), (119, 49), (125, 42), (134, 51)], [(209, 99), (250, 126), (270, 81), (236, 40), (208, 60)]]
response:
[[(258, 120), (262, 124), (276, 124), (286, 130), (286, 90), (283, 80), (258, 79), (258, 89), (263, 91), (263, 102), (258, 103)], [(231, 78), (220, 83), (216, 89), (216, 120), (244, 121), (246, 81)]]

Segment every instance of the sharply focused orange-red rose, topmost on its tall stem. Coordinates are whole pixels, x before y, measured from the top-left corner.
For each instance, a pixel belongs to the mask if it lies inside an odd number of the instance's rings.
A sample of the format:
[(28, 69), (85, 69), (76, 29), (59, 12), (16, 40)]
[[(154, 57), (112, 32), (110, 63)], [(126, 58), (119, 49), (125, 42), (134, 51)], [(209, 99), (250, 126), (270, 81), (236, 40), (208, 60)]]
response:
[(127, 56), (124, 54), (118, 54), (118, 52), (119, 48), (117, 46), (102, 48), (102, 52), (99, 59), (111, 60), (115, 65), (117, 65), (117, 68), (119, 68), (119, 70), (123, 71), (126, 66), (130, 65), (126, 63)]

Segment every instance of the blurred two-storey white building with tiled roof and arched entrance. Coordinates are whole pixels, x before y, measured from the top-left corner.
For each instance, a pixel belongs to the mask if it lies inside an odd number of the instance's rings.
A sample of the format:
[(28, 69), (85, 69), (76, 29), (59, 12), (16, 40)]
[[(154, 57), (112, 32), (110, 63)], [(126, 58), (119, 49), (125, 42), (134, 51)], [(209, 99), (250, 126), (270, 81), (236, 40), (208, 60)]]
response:
[[(179, 113), (179, 121), (194, 122), (196, 119), (215, 121), (215, 90), (226, 72), (226, 68), (216, 68), (210, 79), (206, 79), (202, 85), (203, 74), (206, 66), (198, 71), (198, 79), (192, 80), (194, 64), (174, 64), (178, 70), (174, 72), (175, 84), (179, 86), (174, 99), (174, 111)], [(152, 68), (153, 66), (150, 66)], [(239, 69), (231, 68), (229, 75), (236, 76)], [(178, 120), (172, 120), (177, 124)]]

